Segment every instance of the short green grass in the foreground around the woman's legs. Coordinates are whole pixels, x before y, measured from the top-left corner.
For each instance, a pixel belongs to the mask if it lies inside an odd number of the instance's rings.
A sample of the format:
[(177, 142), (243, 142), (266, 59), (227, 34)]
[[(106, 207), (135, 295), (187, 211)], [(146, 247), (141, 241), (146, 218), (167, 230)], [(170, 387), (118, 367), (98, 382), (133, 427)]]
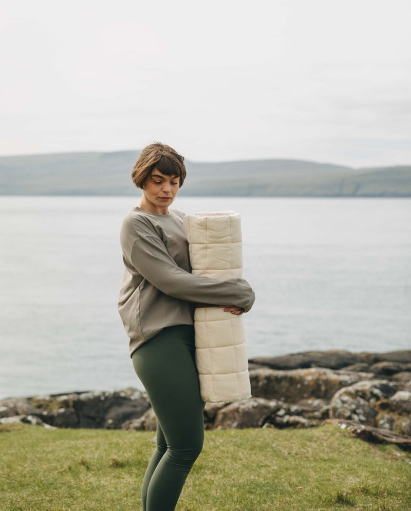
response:
[[(153, 433), (0, 426), (3, 511), (140, 510)], [(411, 455), (311, 429), (206, 431), (176, 511), (409, 511)]]

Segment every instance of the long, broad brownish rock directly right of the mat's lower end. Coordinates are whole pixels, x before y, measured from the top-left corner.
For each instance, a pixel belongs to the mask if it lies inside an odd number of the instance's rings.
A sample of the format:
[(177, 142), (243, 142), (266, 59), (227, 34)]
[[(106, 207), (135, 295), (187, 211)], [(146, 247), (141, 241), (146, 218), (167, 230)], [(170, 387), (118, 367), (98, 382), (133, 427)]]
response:
[(372, 377), (370, 373), (322, 368), (290, 371), (253, 369), (250, 371), (251, 394), (257, 398), (278, 399), (288, 403), (297, 403), (309, 398), (330, 400), (342, 387), (370, 377)]

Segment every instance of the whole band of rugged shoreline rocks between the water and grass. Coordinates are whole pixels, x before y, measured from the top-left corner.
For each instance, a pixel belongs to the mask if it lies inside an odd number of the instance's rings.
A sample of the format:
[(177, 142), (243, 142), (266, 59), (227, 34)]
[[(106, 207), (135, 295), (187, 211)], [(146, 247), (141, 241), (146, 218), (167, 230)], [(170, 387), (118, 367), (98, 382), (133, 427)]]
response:
[[(249, 361), (252, 398), (208, 403), (206, 429), (306, 428), (325, 421), (411, 450), (411, 350), (309, 351)], [(0, 424), (155, 430), (145, 392), (71, 392), (0, 401)]]

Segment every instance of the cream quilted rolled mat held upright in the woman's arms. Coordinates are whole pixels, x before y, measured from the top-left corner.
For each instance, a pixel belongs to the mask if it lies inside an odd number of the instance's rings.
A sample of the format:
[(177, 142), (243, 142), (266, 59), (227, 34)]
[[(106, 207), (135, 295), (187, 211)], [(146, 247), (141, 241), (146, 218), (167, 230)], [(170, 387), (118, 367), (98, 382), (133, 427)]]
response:
[[(183, 225), (192, 273), (215, 280), (242, 276), (238, 213), (196, 213), (185, 216)], [(242, 316), (218, 307), (199, 307), (194, 313), (194, 329), (202, 400), (215, 403), (250, 398)]]

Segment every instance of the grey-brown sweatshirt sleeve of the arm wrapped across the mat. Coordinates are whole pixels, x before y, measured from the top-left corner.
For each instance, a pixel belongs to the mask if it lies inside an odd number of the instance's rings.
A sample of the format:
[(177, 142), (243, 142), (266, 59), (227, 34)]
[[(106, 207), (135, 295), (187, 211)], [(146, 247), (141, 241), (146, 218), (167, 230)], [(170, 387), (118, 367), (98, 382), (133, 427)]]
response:
[(255, 295), (242, 278), (218, 281), (180, 268), (156, 236), (139, 236), (130, 253), (133, 267), (154, 287), (181, 300), (235, 305), (249, 311)]

